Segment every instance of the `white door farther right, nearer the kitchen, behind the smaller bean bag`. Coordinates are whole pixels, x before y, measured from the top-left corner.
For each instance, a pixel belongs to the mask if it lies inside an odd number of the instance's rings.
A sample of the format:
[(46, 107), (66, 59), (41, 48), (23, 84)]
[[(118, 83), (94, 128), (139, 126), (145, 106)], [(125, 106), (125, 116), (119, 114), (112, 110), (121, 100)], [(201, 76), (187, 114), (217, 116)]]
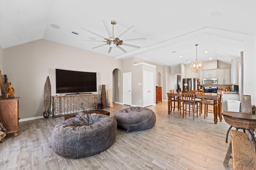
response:
[(154, 73), (149, 71), (143, 72), (143, 106), (154, 104)]

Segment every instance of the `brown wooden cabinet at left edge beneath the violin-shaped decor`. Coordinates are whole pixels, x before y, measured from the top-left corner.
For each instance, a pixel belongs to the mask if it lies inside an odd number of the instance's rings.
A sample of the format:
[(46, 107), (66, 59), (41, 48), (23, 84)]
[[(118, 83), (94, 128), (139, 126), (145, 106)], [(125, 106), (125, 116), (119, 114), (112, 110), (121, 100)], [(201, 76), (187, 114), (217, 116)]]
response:
[(0, 119), (7, 130), (7, 133), (18, 135), (19, 131), (19, 99), (1, 99), (0, 100)]

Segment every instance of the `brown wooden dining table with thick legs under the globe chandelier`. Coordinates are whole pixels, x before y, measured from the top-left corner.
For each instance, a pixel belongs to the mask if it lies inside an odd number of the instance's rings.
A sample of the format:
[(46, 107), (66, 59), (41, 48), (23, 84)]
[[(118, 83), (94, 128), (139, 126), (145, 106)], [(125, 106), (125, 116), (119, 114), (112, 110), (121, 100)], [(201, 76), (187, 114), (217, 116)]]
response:
[[(220, 95), (219, 93), (203, 93), (203, 94), (196, 94), (196, 98), (201, 98), (201, 99), (213, 99), (214, 105), (213, 105), (213, 113), (214, 113), (214, 123), (218, 123), (218, 115), (220, 116), (221, 108), (218, 107), (220, 105)], [(168, 114), (172, 112), (170, 109), (171, 104), (172, 104), (172, 98), (174, 97), (180, 97), (181, 98), (181, 92), (176, 92), (176, 93), (167, 93), (168, 96)], [(220, 119), (221, 121), (221, 119)]]

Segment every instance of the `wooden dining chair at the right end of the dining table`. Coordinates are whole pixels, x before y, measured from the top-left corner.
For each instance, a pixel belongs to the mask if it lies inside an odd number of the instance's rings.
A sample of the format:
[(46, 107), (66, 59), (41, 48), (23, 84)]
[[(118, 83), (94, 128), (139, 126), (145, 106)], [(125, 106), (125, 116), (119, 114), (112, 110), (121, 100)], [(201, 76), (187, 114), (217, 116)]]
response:
[[(222, 115), (220, 114), (221, 108), (222, 108), (222, 97), (224, 91), (217, 92), (220, 94), (220, 97), (218, 98), (218, 117), (220, 119), (220, 122), (222, 121)], [(204, 119), (208, 117), (208, 112), (209, 113), (214, 113), (213, 110), (208, 109), (208, 105), (214, 105), (214, 101), (212, 99), (202, 99), (202, 104), (204, 104)]]

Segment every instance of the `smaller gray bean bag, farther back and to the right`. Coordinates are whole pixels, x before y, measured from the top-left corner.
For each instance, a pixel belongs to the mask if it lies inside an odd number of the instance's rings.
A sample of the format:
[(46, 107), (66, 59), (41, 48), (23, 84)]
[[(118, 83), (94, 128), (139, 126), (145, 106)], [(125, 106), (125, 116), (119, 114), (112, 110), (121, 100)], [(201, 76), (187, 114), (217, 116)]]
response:
[(114, 114), (117, 127), (130, 130), (146, 130), (156, 123), (154, 111), (146, 107), (129, 107)]

